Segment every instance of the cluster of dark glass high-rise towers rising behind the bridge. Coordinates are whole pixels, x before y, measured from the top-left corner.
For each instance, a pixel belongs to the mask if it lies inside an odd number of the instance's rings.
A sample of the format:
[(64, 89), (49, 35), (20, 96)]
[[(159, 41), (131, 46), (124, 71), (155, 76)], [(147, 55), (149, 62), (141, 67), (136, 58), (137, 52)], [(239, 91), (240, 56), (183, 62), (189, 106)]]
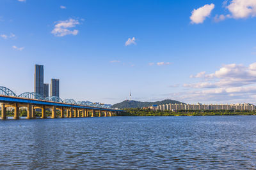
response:
[[(42, 97), (49, 97), (49, 84), (44, 83), (44, 66), (35, 65), (35, 75), (34, 75), (34, 92), (40, 94)], [(57, 96), (60, 97), (60, 80), (51, 79), (50, 87), (50, 97)]]

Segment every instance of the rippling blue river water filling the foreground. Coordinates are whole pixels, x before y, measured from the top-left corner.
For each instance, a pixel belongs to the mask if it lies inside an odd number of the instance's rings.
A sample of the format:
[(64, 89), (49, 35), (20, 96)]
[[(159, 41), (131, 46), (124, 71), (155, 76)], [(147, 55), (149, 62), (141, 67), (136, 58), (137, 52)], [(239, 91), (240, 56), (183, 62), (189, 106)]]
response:
[(256, 117), (0, 121), (0, 169), (255, 169)]

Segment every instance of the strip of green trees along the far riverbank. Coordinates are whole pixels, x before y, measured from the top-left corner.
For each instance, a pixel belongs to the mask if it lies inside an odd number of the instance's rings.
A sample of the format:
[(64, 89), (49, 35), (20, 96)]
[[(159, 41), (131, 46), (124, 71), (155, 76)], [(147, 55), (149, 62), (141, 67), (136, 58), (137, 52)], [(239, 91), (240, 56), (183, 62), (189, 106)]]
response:
[(256, 115), (256, 111), (239, 111), (239, 110), (180, 110), (180, 111), (161, 111), (161, 110), (150, 110), (141, 108), (125, 108), (123, 113), (119, 116), (232, 116), (232, 115)]

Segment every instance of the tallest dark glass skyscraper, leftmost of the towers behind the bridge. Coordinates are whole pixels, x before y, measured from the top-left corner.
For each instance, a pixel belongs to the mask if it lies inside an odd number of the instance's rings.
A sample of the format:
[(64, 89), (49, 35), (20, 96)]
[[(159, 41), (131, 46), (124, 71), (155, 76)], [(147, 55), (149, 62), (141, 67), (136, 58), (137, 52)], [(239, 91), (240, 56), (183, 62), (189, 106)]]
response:
[(44, 96), (44, 66), (35, 65), (34, 92)]

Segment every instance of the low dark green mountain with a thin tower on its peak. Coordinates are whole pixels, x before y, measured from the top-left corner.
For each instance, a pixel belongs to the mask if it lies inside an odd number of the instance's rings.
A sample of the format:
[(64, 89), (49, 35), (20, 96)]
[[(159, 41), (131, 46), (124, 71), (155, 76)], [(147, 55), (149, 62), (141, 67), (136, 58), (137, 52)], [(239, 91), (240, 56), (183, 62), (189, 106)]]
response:
[[(160, 105), (160, 104), (182, 104), (182, 102), (179, 101), (173, 101), (170, 99), (164, 100), (164, 101), (156, 101), (156, 102), (142, 102), (142, 101), (123, 101), (121, 103), (114, 104), (111, 108), (143, 108), (148, 107), (152, 105)], [(184, 103), (183, 103), (184, 104)]]

